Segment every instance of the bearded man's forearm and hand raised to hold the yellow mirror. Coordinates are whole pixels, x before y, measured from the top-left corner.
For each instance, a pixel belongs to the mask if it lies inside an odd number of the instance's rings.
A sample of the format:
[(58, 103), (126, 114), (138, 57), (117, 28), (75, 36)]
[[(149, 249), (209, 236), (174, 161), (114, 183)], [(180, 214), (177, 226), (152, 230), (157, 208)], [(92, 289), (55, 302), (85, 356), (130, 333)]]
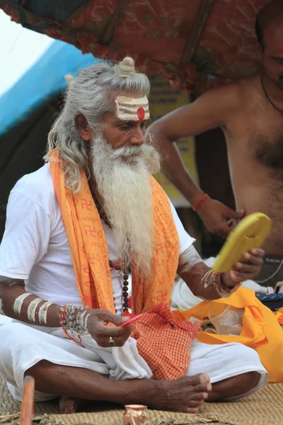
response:
[(238, 261), (233, 271), (215, 273), (190, 246), (180, 254), (177, 273), (196, 297), (216, 300), (231, 295), (244, 280), (254, 280), (260, 273), (264, 255), (262, 249), (251, 249), (243, 256), (247, 262)]

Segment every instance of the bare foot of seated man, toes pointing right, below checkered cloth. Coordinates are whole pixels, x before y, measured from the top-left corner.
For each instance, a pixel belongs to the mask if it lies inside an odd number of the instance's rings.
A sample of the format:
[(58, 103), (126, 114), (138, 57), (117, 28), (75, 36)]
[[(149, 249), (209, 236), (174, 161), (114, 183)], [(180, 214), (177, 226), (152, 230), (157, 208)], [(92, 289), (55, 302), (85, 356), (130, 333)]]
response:
[(212, 385), (208, 375), (200, 373), (177, 380), (156, 381), (156, 392), (151, 393), (148, 406), (159, 410), (195, 413), (207, 399)]

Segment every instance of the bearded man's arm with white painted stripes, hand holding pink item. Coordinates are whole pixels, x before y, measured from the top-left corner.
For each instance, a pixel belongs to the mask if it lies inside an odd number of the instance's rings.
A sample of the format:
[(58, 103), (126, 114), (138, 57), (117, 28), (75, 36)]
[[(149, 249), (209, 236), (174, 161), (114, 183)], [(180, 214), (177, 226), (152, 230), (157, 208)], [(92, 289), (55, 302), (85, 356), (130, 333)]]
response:
[[(25, 282), (12, 278), (0, 277), (0, 302), (1, 310), (12, 319), (21, 320), (28, 324), (36, 324), (42, 327), (61, 327), (59, 314), (62, 306), (54, 302), (48, 302), (28, 293), (25, 290)], [(80, 322), (79, 307), (74, 310), (76, 322)], [(112, 314), (108, 310), (87, 309), (83, 320), (85, 330), (91, 334), (99, 346), (111, 346), (109, 339), (115, 341), (116, 346), (122, 346), (129, 338), (131, 326), (119, 327), (125, 322), (124, 317)], [(117, 327), (108, 327), (108, 322), (116, 324)]]

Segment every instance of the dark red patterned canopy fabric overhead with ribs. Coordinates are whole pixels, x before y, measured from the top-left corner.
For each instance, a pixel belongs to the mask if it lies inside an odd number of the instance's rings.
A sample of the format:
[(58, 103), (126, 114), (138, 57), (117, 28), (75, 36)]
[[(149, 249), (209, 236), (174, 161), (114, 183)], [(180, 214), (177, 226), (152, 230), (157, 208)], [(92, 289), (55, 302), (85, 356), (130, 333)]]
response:
[[(23, 26), (200, 93), (260, 67), (255, 16), (271, 0), (0, 0)], [(213, 77), (216, 77), (212, 79)]]

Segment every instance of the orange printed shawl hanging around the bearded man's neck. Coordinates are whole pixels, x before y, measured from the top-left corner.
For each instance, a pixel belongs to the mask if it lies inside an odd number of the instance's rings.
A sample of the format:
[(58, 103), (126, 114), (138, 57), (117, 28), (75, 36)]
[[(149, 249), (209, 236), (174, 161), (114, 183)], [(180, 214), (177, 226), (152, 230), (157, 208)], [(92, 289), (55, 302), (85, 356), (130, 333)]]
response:
[[(82, 188), (72, 193), (64, 185), (62, 159), (52, 151), (50, 169), (64, 227), (69, 239), (71, 258), (83, 305), (103, 308), (115, 314), (108, 248), (103, 226), (91, 196), (88, 180), (81, 171)], [(161, 186), (151, 177), (154, 209), (154, 248), (152, 272), (143, 279), (132, 268), (132, 307), (135, 314), (151, 310), (165, 302), (171, 305), (171, 293), (178, 267), (179, 237), (171, 206)], [(137, 217), (139, 220), (139, 217)]]

